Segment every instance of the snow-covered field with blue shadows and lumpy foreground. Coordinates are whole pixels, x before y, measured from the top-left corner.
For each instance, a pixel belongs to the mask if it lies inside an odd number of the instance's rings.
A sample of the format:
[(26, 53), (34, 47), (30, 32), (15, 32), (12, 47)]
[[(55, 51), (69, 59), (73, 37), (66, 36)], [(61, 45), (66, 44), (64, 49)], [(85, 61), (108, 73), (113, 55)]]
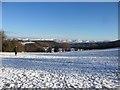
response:
[(0, 53), (0, 88), (118, 88), (118, 49)]

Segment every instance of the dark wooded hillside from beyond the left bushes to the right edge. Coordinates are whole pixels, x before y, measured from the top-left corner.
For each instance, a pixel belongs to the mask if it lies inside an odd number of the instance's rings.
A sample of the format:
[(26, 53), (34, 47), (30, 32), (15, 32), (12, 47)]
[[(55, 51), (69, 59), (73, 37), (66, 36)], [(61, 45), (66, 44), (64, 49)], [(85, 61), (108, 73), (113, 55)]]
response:
[[(62, 51), (70, 51), (71, 48), (74, 50), (78, 49), (107, 49), (120, 47), (120, 40), (110, 42), (89, 42), (89, 43), (58, 43), (55, 41), (32, 41), (34, 43), (25, 44), (25, 51), (27, 52), (51, 52), (54, 49), (58, 52), (61, 48)], [(46, 50), (45, 50), (46, 49)]]

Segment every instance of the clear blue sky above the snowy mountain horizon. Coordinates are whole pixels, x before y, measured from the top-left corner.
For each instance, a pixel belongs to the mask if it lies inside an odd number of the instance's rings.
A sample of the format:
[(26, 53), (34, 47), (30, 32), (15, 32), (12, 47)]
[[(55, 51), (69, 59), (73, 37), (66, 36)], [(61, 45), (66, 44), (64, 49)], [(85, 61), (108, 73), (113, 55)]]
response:
[(81, 40), (118, 38), (115, 2), (3, 2), (8, 36)]

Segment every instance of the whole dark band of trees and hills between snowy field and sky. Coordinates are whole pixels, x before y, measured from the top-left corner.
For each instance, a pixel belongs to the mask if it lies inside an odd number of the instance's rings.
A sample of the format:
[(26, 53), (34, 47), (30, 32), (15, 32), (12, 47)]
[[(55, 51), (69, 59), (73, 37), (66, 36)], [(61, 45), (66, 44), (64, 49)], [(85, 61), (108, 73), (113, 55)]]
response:
[[(5, 32), (2, 32), (2, 51), (12, 52), (13, 48), (17, 46), (18, 52), (59, 52), (71, 51), (71, 48), (77, 51), (91, 50), (91, 49), (107, 49), (120, 47), (120, 40), (111, 42), (95, 42), (95, 43), (58, 43), (55, 41), (32, 41), (34, 43), (23, 44), (24, 41), (18, 39), (7, 38)], [(1, 43), (1, 42), (0, 42)]]

